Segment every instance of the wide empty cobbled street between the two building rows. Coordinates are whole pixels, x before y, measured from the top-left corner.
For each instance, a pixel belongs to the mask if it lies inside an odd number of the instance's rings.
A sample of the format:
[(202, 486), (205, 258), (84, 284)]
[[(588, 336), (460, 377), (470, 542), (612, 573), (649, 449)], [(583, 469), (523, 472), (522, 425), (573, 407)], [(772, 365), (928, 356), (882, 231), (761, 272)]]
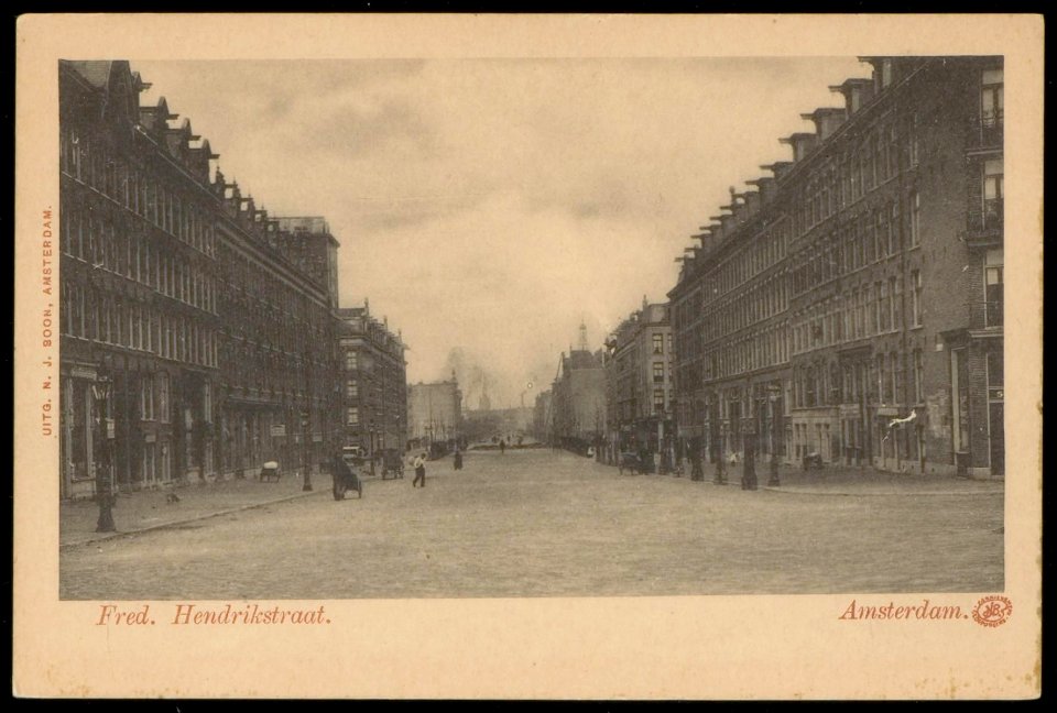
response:
[(840, 496), (471, 451), (425, 489), (298, 500), (66, 549), (77, 600), (976, 592), (1003, 588), (1001, 495)]

